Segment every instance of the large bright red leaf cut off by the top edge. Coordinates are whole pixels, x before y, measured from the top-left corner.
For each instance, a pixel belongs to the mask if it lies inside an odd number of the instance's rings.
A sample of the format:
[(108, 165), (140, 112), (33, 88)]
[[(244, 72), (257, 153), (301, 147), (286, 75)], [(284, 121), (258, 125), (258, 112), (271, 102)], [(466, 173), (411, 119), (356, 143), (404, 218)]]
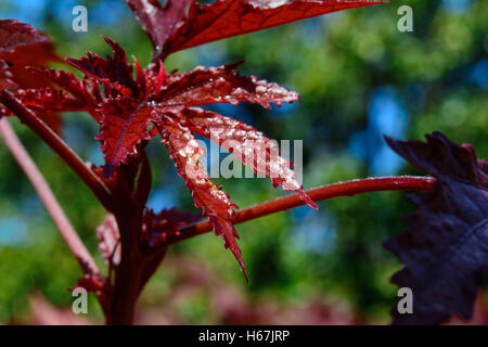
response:
[(325, 13), (385, 1), (356, 0), (126, 0), (149, 35), (154, 59), (220, 39), (268, 29)]

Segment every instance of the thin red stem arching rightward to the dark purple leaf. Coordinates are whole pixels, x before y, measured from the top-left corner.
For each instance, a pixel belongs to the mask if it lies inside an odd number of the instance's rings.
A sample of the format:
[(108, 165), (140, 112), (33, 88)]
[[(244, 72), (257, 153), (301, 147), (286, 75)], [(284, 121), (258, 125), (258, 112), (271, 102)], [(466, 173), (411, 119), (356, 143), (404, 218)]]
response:
[[(308, 190), (307, 194), (312, 201), (318, 202), (338, 196), (354, 196), (356, 194), (369, 192), (431, 191), (434, 189), (435, 182), (436, 179), (432, 177), (375, 177), (313, 188)], [(237, 224), (301, 205), (305, 205), (305, 202), (296, 194), (287, 195), (239, 210), (235, 213), (233, 221)], [(213, 226), (208, 220), (196, 222), (181, 228), (178, 235), (168, 235), (163, 246), (167, 247), (171, 244), (204, 234), (211, 230)]]

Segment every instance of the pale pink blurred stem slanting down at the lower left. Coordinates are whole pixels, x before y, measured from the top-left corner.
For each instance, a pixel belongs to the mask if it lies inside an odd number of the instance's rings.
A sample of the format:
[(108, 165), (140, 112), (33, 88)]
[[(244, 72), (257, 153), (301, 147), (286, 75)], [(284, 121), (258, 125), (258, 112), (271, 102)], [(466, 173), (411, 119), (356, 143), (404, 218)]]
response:
[(24, 170), (25, 175), (29, 179), (42, 201), (42, 204), (54, 221), (54, 224), (57, 227), (57, 230), (67, 246), (78, 260), (82, 271), (89, 274), (100, 273), (97, 264), (64, 214), (63, 208), (57, 203), (54, 194), (49, 188), (48, 182), (46, 182), (42, 174), (39, 171), (36, 164), (22, 145), (7, 119), (0, 119), (0, 134), (3, 137), (7, 146), (17, 162), (18, 166)]

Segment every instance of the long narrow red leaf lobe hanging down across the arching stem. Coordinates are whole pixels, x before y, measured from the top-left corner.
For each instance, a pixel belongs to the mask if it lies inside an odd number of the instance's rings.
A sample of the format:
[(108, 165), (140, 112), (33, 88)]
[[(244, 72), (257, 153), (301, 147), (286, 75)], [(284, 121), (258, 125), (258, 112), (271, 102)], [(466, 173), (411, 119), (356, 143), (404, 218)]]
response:
[(191, 131), (179, 125), (169, 116), (164, 116), (164, 125), (158, 129), (175, 160), (178, 175), (187, 182), (195, 206), (203, 209), (214, 226), (216, 235), (223, 239), (226, 248), (230, 248), (241, 266), (247, 281), (247, 273), (241, 256), (241, 249), (235, 242), (237, 232), (232, 223), (233, 208), (237, 206), (232, 203), (229, 195), (215, 185), (200, 158), (205, 155)]

